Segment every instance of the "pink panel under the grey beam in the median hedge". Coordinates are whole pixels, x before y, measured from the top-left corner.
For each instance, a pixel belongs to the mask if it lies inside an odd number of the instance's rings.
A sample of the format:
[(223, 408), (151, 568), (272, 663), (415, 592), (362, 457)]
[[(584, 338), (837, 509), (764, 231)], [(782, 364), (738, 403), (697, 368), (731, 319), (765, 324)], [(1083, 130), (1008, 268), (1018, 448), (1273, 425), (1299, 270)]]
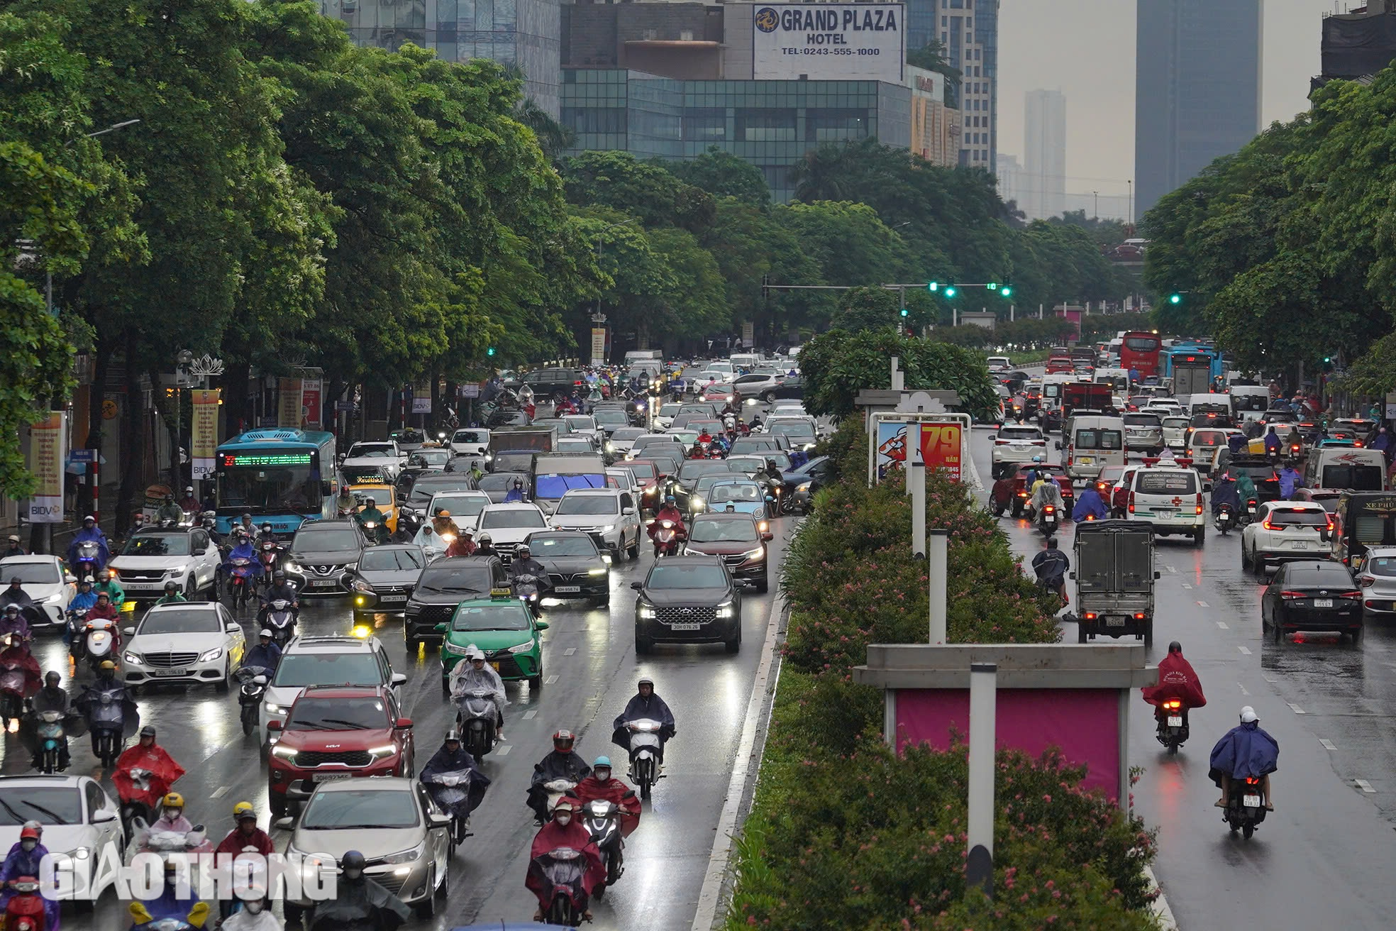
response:
[[(1060, 747), (1074, 764), (1086, 764), (1086, 789), (1118, 800), (1120, 692), (1114, 688), (998, 690), (998, 747), (1039, 755)], [(969, 736), (969, 690), (896, 690), (896, 748), (926, 743), (945, 750), (951, 731)]]

